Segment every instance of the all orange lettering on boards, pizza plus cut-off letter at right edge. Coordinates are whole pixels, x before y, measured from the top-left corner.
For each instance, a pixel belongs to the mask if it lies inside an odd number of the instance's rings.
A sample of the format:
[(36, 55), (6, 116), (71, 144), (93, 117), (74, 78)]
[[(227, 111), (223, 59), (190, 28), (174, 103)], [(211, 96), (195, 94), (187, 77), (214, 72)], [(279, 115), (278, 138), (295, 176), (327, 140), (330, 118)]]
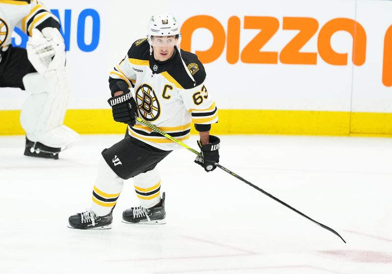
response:
[[(221, 23), (212, 16), (197, 15), (184, 22), (181, 28), (182, 48), (191, 51), (192, 35), (198, 28), (205, 28), (213, 35), (212, 46), (204, 51), (194, 50), (203, 63), (217, 60), (226, 44), (226, 33)], [(241, 52), (241, 61), (248, 64), (277, 64), (277, 51), (261, 51), (278, 31), (279, 21), (274, 17), (245, 16), (244, 29), (259, 29), (260, 32)], [(300, 52), (316, 34), (319, 23), (314, 18), (284, 17), (283, 30), (299, 30), (298, 34), (283, 47), (279, 55), (282, 64), (317, 65), (317, 52)], [(383, 83), (392, 86), (392, 26), (385, 36)], [(363, 26), (355, 20), (336, 18), (321, 27), (317, 41), (320, 57), (328, 64), (347, 65), (348, 53), (338, 53), (331, 46), (331, 38), (338, 31), (348, 32), (352, 39), (352, 62), (361, 66), (366, 61), (367, 36)], [(240, 58), (241, 20), (232, 16), (227, 22), (226, 60), (236, 64)]]

